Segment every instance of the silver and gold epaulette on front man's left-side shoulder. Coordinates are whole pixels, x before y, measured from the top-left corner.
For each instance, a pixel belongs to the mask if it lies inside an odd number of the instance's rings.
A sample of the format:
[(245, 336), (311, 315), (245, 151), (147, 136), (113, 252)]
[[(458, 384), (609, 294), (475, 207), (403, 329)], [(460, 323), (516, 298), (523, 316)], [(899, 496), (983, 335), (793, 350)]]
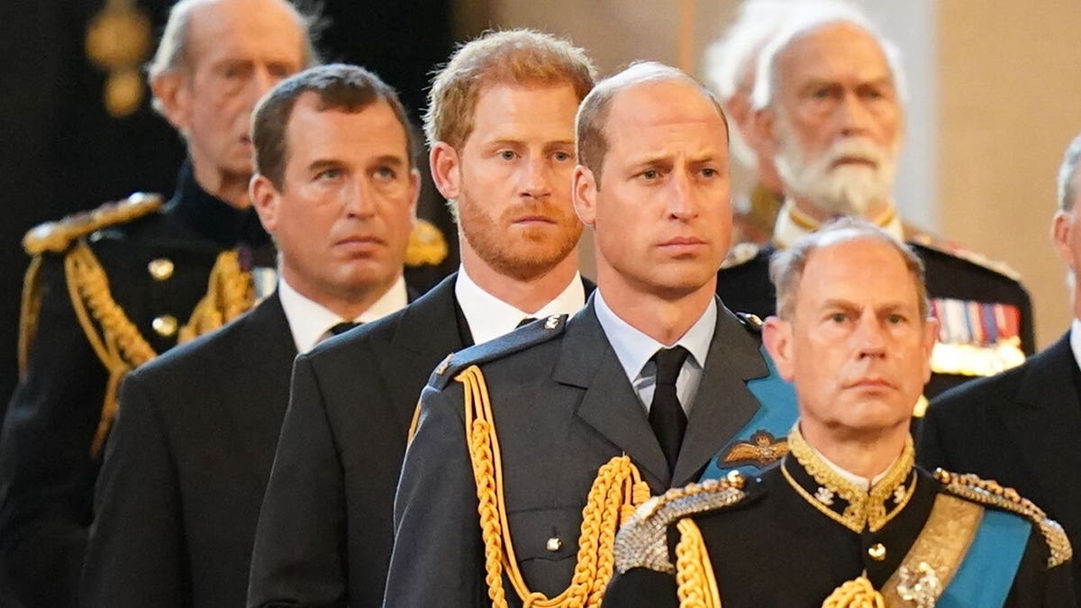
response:
[(691, 484), (653, 497), (638, 507), (615, 538), (616, 571), (649, 568), (676, 572), (668, 557), (668, 526), (689, 515), (730, 507), (746, 498), (744, 477), (738, 471), (732, 471), (724, 479)]

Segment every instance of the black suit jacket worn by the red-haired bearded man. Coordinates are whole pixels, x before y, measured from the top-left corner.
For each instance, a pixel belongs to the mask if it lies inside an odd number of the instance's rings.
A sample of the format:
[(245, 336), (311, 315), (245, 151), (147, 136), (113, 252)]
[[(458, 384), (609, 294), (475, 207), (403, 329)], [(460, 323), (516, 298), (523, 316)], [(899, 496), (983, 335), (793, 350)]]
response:
[(421, 388), (440, 360), (472, 343), (456, 277), (297, 357), (249, 606), (382, 604), (395, 489)]

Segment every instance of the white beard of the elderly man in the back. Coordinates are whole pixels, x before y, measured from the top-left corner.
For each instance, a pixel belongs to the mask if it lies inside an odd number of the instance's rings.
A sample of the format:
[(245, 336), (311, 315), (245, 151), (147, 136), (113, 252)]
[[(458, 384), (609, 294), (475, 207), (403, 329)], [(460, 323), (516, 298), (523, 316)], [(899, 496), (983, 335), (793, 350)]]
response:
[[(774, 162), (790, 196), (806, 199), (831, 216), (865, 216), (875, 203), (890, 198), (897, 173), (899, 138), (893, 149), (883, 149), (865, 137), (838, 140), (809, 162), (787, 120), (778, 117), (777, 125), (783, 144)], [(835, 167), (842, 158), (869, 162)]]

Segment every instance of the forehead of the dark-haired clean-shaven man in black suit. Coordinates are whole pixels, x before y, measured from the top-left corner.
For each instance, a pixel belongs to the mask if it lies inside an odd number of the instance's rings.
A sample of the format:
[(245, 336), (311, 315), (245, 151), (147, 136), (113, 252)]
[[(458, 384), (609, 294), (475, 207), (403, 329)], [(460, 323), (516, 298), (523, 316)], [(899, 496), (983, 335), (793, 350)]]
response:
[(293, 106), (286, 128), (290, 164), (315, 158), (363, 160), (369, 157), (408, 158), (405, 128), (386, 100), (377, 100), (358, 111), (320, 108), (313, 92), (302, 94)]

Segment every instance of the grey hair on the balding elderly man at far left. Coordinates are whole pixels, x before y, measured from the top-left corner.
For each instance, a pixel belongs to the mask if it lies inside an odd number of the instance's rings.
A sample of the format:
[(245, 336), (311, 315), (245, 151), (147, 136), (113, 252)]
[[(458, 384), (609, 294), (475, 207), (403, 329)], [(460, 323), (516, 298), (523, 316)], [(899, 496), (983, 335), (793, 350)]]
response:
[[(319, 13), (319, 8), (308, 9), (297, 6), (289, 0), (282, 0), (285, 5), (293, 11), (296, 21), (304, 34), (304, 63), (305, 67), (319, 65), (319, 52), (316, 50), (315, 39), (318, 32), (325, 25)], [(169, 72), (191, 67), (188, 65), (188, 30), (191, 26), (191, 15), (200, 4), (208, 3), (206, 0), (179, 0), (169, 10), (169, 19), (165, 22), (165, 29), (161, 34), (161, 41), (154, 57), (147, 62), (145, 68), (147, 78), (154, 80)], [(161, 100), (155, 96), (150, 101), (154, 109), (164, 115), (164, 106)]]

